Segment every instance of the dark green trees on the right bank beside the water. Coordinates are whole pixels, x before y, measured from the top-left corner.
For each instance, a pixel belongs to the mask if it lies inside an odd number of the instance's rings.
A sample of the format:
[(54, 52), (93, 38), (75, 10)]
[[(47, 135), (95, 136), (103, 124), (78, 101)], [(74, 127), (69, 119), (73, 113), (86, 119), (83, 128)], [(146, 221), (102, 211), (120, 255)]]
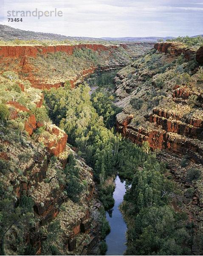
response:
[(127, 221), (127, 255), (190, 255), (192, 226), (170, 206), (174, 184), (153, 154), (137, 170), (121, 209)]

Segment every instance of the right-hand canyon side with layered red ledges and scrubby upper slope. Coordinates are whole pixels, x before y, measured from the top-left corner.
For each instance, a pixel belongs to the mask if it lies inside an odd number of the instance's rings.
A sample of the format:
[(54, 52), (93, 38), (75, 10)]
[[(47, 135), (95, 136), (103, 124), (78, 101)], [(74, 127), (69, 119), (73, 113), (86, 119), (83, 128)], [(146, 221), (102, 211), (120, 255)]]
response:
[[(135, 61), (115, 78), (117, 105), (124, 107), (117, 115), (117, 129), (135, 143), (148, 141), (153, 149), (189, 154), (191, 160), (203, 163), (202, 86), (198, 82), (203, 71), (195, 64), (196, 52), (172, 42), (157, 43), (155, 49), (158, 53)], [(192, 69), (174, 74), (182, 53), (183, 70)], [(166, 66), (164, 72), (161, 65)]]

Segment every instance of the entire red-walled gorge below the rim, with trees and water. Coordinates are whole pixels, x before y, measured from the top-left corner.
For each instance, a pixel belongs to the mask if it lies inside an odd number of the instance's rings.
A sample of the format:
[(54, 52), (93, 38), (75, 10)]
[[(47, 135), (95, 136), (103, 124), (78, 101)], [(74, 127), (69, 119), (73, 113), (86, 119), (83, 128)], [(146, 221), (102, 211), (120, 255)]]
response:
[(203, 252), (202, 51), (0, 46), (1, 254)]

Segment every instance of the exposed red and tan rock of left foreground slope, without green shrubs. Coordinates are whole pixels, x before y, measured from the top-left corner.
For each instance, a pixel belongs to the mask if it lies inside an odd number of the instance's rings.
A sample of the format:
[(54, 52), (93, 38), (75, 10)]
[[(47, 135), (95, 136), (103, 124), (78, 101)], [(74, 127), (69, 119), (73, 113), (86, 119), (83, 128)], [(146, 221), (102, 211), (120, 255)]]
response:
[[(36, 104), (37, 108), (43, 108), (43, 99), (42, 94), (41, 99)], [(35, 115), (28, 108), (16, 101), (8, 101), (6, 102), (6, 106), (11, 111), (10, 119), (15, 120), (22, 113), (28, 115), (27, 118), (22, 120), (29, 141), (26, 146), (28, 148), (35, 148), (36, 153), (28, 163), (25, 163), (24, 169), (22, 167), (23, 177), (26, 178), (17, 180), (14, 175), (9, 181), (18, 200), (27, 195), (31, 196), (34, 201), (34, 215), (38, 221), (36, 226), (30, 232), (26, 233), (25, 244), (31, 245), (36, 250), (36, 255), (40, 255), (42, 253), (42, 243), (46, 237), (42, 236), (39, 230), (57, 218), (62, 224), (65, 223), (63, 227), (65, 232), (62, 233), (63, 250), (66, 253), (73, 252), (73, 254), (79, 252), (81, 255), (90, 253), (92, 248), (100, 241), (99, 223), (98, 221), (93, 221), (91, 218), (92, 212), (99, 210), (101, 207), (95, 192), (93, 170), (68, 147), (68, 135), (65, 131), (49, 123), (46, 128), (44, 127), (45, 133), (42, 132), (31, 139), (34, 131), (45, 124), (39, 121), (37, 122)], [(6, 144), (2, 140), (0, 140), (0, 143)], [(39, 149), (39, 143), (43, 143), (44, 147)], [(15, 145), (12, 145), (12, 150), (8, 150), (7, 153), (0, 152), (0, 159), (10, 161), (14, 157), (13, 154), (16, 154), (15, 157), (17, 158), (19, 148), (14, 147)], [(54, 175), (56, 174), (51, 171), (51, 157), (57, 157), (57, 165), (61, 169), (65, 168), (69, 154), (73, 154), (77, 158), (76, 164), (79, 168), (79, 174), (83, 181), (87, 181), (87, 187), (81, 195), (82, 204), (74, 203), (63, 193), (65, 191), (64, 184), (54, 185), (56, 178)], [(50, 172), (53, 173), (50, 174)], [(53, 177), (55, 178), (53, 179)], [(60, 209), (62, 204), (63, 210)], [(66, 211), (68, 212), (70, 209), (74, 209), (73, 214), (70, 214), (68, 219), (66, 219)]]

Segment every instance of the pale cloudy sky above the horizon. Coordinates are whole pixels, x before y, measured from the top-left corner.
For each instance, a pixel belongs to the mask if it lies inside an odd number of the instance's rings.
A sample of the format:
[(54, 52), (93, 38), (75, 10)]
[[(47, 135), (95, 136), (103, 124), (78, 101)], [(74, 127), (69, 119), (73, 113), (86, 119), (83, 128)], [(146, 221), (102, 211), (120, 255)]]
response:
[[(63, 15), (8, 22), (8, 11), (36, 8)], [(203, 34), (203, 0), (0, 0), (0, 24), (94, 38), (192, 36)]]

